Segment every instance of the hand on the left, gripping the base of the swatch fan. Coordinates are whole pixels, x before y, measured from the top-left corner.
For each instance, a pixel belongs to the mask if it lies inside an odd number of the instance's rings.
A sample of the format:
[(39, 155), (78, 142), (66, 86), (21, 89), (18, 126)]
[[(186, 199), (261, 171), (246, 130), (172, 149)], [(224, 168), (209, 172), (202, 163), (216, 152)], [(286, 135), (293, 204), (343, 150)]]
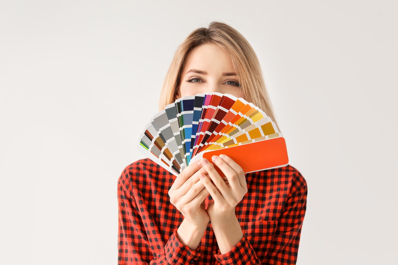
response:
[(168, 192), (170, 203), (182, 213), (185, 223), (189, 222), (192, 228), (207, 226), (210, 220), (203, 204), (209, 191), (199, 181), (199, 174), (206, 172), (202, 168), (200, 162), (189, 164), (181, 171)]

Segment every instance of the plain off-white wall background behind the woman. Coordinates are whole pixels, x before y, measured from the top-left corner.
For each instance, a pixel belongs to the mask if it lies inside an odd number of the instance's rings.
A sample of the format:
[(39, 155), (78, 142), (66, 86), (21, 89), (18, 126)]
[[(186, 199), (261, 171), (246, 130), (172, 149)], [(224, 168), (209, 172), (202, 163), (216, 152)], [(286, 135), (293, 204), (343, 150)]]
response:
[(213, 20), (253, 46), (307, 181), (297, 264), (396, 261), (396, 10), (0, 0), (0, 263), (117, 264), (117, 179), (177, 46)]

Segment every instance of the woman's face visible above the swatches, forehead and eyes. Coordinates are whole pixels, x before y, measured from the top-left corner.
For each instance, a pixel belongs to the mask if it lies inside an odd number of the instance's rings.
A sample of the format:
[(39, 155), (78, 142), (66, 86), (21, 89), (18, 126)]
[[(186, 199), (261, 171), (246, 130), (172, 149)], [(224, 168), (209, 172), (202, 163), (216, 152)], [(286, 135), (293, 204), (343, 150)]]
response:
[(211, 92), (243, 98), (228, 54), (215, 44), (202, 44), (193, 48), (186, 58), (175, 99)]

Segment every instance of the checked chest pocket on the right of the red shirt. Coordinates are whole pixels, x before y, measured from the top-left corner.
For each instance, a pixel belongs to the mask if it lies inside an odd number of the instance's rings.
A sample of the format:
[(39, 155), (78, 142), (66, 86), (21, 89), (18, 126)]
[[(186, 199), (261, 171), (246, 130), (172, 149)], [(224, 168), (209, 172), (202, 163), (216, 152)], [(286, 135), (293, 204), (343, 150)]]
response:
[(241, 224), (242, 232), (252, 245), (257, 256), (265, 257), (271, 246), (272, 238), (278, 227), (278, 221), (258, 220)]

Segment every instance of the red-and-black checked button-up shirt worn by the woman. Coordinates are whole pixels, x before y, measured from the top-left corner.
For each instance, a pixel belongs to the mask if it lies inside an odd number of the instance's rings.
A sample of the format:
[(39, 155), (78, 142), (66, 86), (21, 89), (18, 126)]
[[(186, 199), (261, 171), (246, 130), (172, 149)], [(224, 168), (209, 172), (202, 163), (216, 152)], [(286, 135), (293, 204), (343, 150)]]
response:
[[(246, 174), (248, 192), (236, 205), (243, 238), (221, 254), (211, 226), (196, 250), (178, 240), (183, 215), (170, 203), (176, 176), (141, 159), (117, 183), (118, 264), (296, 264), (307, 203), (307, 184), (287, 165)], [(205, 200), (206, 207), (212, 201)]]

